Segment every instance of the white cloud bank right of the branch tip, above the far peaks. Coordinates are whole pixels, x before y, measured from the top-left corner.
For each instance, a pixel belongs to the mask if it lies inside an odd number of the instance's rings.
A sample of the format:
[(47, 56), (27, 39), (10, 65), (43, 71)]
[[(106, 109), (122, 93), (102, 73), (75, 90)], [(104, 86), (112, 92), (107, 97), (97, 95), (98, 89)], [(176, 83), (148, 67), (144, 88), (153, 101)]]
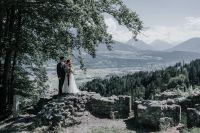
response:
[(139, 38), (145, 42), (164, 40), (173, 44), (180, 43), (193, 37), (200, 37), (200, 17), (186, 17), (182, 25), (177, 26), (152, 26), (143, 31)]

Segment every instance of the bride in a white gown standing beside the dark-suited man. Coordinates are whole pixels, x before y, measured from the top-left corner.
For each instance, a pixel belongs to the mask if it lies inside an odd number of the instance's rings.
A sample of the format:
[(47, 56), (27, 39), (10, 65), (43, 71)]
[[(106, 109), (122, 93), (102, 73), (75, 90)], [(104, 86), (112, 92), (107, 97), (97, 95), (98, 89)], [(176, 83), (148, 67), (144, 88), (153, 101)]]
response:
[(80, 90), (77, 88), (74, 75), (73, 75), (73, 67), (71, 64), (71, 60), (67, 60), (66, 62), (66, 76), (63, 84), (62, 92), (63, 93), (78, 93)]

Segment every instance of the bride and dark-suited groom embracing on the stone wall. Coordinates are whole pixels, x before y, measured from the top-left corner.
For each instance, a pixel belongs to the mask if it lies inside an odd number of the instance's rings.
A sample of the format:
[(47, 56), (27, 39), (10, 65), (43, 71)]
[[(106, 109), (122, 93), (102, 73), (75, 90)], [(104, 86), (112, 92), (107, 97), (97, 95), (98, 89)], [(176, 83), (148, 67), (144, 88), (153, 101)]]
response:
[(57, 75), (59, 79), (59, 95), (63, 93), (78, 93), (71, 60), (65, 61), (64, 57), (60, 57), (60, 62), (57, 64)]

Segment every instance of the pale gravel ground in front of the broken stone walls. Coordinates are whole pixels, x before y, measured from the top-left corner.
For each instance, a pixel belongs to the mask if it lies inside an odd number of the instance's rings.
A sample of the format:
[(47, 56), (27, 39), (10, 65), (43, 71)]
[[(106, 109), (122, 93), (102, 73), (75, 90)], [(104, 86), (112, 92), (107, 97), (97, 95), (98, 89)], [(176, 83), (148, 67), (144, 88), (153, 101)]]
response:
[[(147, 130), (138, 130), (130, 128), (127, 122), (124, 120), (110, 120), (96, 118), (88, 113), (79, 118), (81, 120), (80, 125), (63, 129), (64, 133), (156, 133)], [(128, 129), (130, 128), (130, 129)], [(166, 131), (157, 133), (179, 133), (177, 127), (169, 128)]]

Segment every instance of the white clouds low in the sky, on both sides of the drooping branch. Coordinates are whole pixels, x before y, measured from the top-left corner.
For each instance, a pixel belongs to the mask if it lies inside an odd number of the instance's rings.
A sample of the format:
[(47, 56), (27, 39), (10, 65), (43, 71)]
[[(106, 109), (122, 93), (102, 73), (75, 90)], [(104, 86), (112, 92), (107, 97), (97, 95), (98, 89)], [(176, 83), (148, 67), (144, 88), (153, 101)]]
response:
[[(131, 32), (127, 28), (119, 26), (113, 17), (105, 16), (105, 23), (108, 26), (108, 32), (113, 35), (114, 40), (126, 42), (131, 39)], [(186, 17), (184, 24), (177, 26), (149, 26), (138, 36), (139, 39), (147, 43), (154, 40), (164, 40), (173, 44), (193, 37), (200, 37), (200, 17)]]

